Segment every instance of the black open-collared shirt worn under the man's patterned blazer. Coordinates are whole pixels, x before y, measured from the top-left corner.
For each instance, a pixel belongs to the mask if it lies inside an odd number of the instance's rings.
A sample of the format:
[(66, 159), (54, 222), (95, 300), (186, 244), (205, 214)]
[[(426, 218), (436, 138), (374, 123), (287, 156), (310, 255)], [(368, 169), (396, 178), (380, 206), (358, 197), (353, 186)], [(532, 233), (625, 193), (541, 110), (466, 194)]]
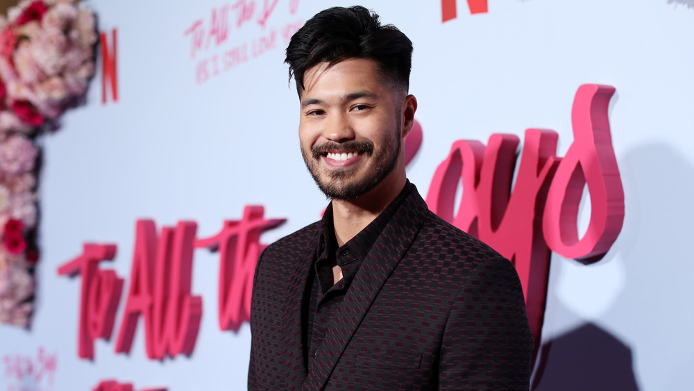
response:
[[(310, 310), (307, 318), (307, 367), (309, 370), (312, 369), (316, 351), (321, 348), (328, 325), (333, 317), (339, 316), (340, 303), (348, 294), (349, 287), (359, 272), (366, 254), (411, 191), (412, 184), (407, 181), (398, 197), (373, 222), (339, 248), (335, 238), (332, 203), (325, 209), (322, 220), (323, 234), (314, 256), (311, 276)], [(333, 285), (332, 275), (334, 265), (339, 265), (342, 271), (342, 279), (335, 285)]]

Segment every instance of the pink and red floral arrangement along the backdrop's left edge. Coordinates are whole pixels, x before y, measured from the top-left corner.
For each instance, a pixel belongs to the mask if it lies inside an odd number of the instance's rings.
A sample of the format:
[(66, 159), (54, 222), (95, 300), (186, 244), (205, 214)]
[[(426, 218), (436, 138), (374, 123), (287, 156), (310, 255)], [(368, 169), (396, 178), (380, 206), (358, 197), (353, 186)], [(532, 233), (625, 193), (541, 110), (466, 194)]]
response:
[(33, 312), (35, 142), (83, 101), (94, 74), (94, 14), (72, 0), (22, 0), (0, 16), (0, 323)]

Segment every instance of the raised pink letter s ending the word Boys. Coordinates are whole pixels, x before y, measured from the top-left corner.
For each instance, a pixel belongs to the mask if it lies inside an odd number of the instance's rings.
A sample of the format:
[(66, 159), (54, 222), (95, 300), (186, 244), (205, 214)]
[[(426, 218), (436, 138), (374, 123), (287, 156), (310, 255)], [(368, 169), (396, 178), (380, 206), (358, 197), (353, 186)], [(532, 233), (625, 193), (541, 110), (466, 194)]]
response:
[[(545, 204), (543, 232), (550, 249), (584, 263), (607, 253), (624, 220), (624, 190), (607, 115), (614, 91), (609, 85), (578, 88), (571, 110), (574, 141), (559, 163)], [(577, 215), (586, 183), (591, 219), (579, 239)]]

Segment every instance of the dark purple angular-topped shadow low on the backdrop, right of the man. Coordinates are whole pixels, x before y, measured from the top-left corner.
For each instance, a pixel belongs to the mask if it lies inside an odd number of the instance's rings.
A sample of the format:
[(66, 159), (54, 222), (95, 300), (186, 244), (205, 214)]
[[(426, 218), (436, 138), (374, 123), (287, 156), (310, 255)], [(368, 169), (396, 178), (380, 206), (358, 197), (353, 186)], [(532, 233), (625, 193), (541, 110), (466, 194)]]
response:
[(595, 324), (546, 342), (542, 377), (534, 391), (638, 391), (632, 350)]

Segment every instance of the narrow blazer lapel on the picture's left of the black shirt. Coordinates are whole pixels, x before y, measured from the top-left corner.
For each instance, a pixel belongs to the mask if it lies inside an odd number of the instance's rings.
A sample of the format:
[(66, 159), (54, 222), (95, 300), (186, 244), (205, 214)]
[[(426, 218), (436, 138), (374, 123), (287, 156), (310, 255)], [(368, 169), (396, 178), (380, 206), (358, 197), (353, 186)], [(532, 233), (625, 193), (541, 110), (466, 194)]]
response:
[(281, 343), (285, 356), (280, 364), (286, 370), (287, 390), (300, 389), (307, 374), (303, 315), (305, 306), (309, 305), (305, 297), (308, 292), (313, 254), (318, 245), (318, 232), (316, 231), (316, 238), (307, 244), (307, 251), (303, 257), (296, 261), (296, 266), (289, 276), (287, 294), (282, 298)]

